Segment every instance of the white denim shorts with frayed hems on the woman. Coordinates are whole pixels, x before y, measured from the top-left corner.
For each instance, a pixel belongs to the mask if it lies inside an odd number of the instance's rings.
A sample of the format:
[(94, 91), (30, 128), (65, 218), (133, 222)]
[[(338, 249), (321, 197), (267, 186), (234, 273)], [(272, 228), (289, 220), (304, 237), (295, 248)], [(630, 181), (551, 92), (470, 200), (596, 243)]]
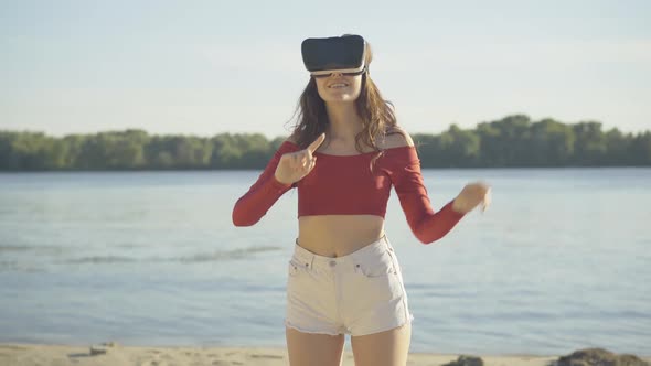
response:
[(295, 245), (285, 325), (306, 333), (357, 336), (399, 327), (413, 319), (386, 235), (338, 258)]

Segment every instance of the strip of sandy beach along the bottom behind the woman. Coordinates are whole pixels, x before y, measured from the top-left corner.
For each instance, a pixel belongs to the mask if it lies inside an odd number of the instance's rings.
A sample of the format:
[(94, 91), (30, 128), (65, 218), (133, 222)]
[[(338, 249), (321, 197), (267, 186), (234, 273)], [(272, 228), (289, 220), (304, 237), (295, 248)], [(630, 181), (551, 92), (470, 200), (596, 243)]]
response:
[[(0, 366), (102, 365), (102, 366), (281, 366), (288, 365), (284, 348), (227, 347), (130, 347), (105, 346), (93, 355), (89, 346), (0, 344)], [(481, 356), (485, 366), (544, 366), (557, 356)], [(409, 354), (407, 365), (438, 366), (456, 360), (458, 355)], [(650, 358), (645, 358), (651, 360)], [(344, 366), (353, 366), (346, 352)]]

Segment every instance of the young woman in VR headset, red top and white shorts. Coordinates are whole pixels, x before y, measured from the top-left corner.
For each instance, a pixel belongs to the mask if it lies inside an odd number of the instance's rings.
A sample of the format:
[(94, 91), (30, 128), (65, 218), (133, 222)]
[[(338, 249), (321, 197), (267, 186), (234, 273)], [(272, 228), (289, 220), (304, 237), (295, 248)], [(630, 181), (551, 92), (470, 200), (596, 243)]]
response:
[(340, 365), (344, 334), (351, 334), (355, 365), (406, 365), (413, 316), (384, 233), (391, 187), (424, 244), (478, 205), (485, 209), (490, 189), (468, 184), (434, 212), (414, 142), (370, 77), (363, 37), (308, 39), (302, 55), (311, 77), (298, 122), (236, 202), (233, 223), (254, 225), (298, 189), (285, 321), (290, 365)]

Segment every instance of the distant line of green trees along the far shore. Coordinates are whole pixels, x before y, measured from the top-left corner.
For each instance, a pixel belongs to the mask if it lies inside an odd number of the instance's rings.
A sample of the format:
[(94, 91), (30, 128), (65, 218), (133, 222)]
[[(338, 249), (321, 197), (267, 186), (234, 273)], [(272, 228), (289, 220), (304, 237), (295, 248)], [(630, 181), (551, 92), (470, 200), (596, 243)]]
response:
[[(651, 166), (651, 132), (514, 115), (474, 129), (412, 133), (423, 168)], [(0, 171), (263, 169), (285, 137), (150, 136), (142, 130), (49, 137), (0, 131)]]

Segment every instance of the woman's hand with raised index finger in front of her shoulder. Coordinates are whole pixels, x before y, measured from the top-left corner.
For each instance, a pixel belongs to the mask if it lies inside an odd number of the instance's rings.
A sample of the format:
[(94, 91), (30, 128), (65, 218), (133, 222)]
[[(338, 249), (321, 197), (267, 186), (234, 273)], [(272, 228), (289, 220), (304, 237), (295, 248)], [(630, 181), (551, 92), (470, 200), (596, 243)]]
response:
[(282, 184), (294, 184), (308, 175), (317, 163), (317, 157), (313, 153), (323, 140), (326, 140), (326, 133), (321, 133), (306, 149), (288, 152), (280, 157), (278, 166), (276, 166), (276, 180)]

